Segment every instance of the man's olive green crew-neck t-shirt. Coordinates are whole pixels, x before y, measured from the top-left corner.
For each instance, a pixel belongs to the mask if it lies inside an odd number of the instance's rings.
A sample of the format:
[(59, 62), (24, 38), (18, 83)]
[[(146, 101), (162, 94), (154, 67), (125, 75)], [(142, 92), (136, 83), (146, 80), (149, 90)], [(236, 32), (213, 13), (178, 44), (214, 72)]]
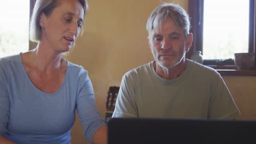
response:
[(112, 117), (235, 118), (232, 96), (216, 70), (188, 61), (173, 80), (162, 79), (153, 63), (128, 71), (121, 82)]

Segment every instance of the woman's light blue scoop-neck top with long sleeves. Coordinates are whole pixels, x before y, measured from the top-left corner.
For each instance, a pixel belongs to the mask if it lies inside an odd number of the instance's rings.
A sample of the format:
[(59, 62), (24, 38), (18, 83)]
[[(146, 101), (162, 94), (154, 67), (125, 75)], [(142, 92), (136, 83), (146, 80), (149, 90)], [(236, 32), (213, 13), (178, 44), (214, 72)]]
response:
[(92, 143), (104, 125), (88, 71), (67, 61), (59, 91), (47, 94), (29, 79), (21, 54), (0, 58), (0, 135), (17, 143), (70, 143), (77, 109), (84, 137)]

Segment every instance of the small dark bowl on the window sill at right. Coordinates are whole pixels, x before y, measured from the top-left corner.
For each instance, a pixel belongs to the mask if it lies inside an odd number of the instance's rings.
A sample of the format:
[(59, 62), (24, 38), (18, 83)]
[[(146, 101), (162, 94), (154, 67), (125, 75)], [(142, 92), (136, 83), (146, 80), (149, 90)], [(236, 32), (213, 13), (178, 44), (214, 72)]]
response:
[(249, 70), (253, 69), (254, 66), (254, 53), (234, 53), (235, 55), (235, 65), (239, 70)]

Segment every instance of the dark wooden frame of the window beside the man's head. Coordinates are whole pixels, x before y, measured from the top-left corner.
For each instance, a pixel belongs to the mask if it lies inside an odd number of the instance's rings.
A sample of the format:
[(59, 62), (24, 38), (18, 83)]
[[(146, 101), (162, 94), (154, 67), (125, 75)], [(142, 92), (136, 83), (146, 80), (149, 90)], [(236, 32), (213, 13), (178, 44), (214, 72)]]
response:
[[(190, 16), (191, 29), (194, 40), (190, 47), (190, 51), (187, 52), (186, 57), (190, 58), (194, 51), (203, 52), (203, 0), (190, 0), (188, 3), (188, 13)], [(249, 44), (248, 52), (255, 54), (255, 0), (249, 0)], [(255, 59), (254, 55), (254, 59)], [(226, 65), (216, 65), (216, 62), (220, 59), (204, 59), (203, 64), (215, 69), (237, 69), (234, 61), (226, 63)], [(256, 61), (254, 61), (254, 69), (256, 69)]]

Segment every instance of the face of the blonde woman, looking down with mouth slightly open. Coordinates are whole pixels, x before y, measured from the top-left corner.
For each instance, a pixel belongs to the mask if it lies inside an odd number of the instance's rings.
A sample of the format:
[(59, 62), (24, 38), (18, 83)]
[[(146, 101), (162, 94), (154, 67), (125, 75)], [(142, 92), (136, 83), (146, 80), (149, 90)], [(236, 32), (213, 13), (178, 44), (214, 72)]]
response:
[(40, 16), (41, 43), (57, 52), (71, 49), (78, 37), (84, 19), (84, 9), (78, 0), (59, 0), (50, 16)]

